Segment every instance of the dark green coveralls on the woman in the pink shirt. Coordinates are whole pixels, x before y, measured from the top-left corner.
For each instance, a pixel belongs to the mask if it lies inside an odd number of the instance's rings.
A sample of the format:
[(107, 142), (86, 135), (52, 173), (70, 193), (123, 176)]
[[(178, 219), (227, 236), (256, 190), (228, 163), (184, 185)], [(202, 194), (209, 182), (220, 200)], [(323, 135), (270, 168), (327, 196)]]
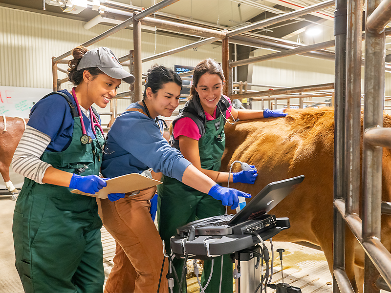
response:
[[(220, 115), (212, 121), (207, 121), (205, 134), (198, 142), (201, 167), (207, 170), (218, 171), (225, 147), (224, 116)], [(157, 186), (158, 198), (158, 225), (161, 238), (166, 244), (166, 251), (170, 252), (170, 238), (176, 235), (176, 228), (189, 222), (207, 217), (223, 215), (225, 207), (221, 201), (212, 196), (195, 190), (180, 181), (163, 176), (163, 184)], [(183, 259), (174, 259), (174, 267), (180, 280)], [(204, 287), (211, 271), (212, 262), (204, 261), (204, 270), (201, 285)], [(212, 279), (205, 290), (206, 293), (218, 293), (220, 284), (221, 257), (214, 260)], [(175, 280), (175, 278), (174, 278)], [(184, 287), (183, 287), (184, 288)], [(174, 292), (179, 291), (179, 284), (174, 281)], [(182, 292), (185, 292), (182, 290)], [(233, 292), (232, 261), (229, 255), (224, 255), (223, 275), (221, 282), (222, 293)]]

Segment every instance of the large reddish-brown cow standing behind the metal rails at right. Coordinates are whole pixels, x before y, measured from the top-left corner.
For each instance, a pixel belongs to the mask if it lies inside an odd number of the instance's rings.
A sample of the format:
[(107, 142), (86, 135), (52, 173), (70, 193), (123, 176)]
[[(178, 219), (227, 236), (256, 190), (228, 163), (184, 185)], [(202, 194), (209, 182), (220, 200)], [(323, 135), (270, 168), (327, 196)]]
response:
[[(233, 184), (233, 188), (257, 194), (272, 181), (298, 175), (305, 179), (270, 213), (289, 217), (291, 228), (275, 236), (277, 241), (306, 241), (319, 245), (332, 272), (333, 248), (333, 155), (334, 109), (287, 109), (288, 116), (226, 124), (226, 148), (221, 170), (239, 160), (258, 168), (254, 185)], [(362, 127), (361, 119), (361, 127)], [(391, 127), (391, 117), (384, 116), (384, 127)], [(238, 164), (239, 165), (239, 164)], [(235, 171), (239, 166), (234, 166)], [(384, 201), (391, 201), (391, 150), (383, 149)], [(360, 188), (361, 190), (361, 188)], [(348, 230), (348, 228), (347, 228)], [(391, 249), (391, 217), (382, 216), (382, 242)], [(346, 235), (346, 272), (355, 291), (354, 262), (363, 264), (363, 251), (354, 255), (359, 245), (348, 230)], [(360, 285), (362, 280), (360, 280)], [(360, 286), (359, 286), (360, 287)], [(362, 287), (361, 287), (362, 288)], [(360, 289), (361, 289), (360, 288)], [(361, 291), (361, 290), (360, 290)]]

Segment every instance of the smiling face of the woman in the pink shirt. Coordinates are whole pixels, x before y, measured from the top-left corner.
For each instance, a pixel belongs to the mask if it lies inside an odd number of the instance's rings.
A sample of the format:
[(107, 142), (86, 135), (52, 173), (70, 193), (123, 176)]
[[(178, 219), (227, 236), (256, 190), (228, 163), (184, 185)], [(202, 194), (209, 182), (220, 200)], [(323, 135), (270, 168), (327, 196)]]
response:
[(216, 105), (223, 94), (223, 81), (217, 74), (205, 73), (198, 81), (195, 90), (205, 112), (213, 115)]

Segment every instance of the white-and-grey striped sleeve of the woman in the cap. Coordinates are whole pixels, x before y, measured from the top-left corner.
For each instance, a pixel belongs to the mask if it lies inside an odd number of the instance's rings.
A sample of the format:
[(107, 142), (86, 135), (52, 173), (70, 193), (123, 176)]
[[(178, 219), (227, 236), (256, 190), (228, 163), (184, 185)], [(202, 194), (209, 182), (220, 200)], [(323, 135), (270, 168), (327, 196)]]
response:
[(40, 160), (40, 157), (50, 141), (48, 135), (27, 126), (12, 158), (14, 171), (39, 184), (43, 184), (43, 175), (51, 165)]

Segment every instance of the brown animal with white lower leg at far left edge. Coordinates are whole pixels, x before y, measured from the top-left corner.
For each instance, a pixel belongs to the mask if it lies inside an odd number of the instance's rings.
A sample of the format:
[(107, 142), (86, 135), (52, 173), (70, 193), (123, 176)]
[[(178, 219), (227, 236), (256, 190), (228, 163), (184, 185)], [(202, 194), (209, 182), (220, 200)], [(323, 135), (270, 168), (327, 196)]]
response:
[(4, 179), (5, 186), (12, 193), (18, 193), (19, 190), (11, 182), (9, 167), (12, 156), (24, 132), (26, 121), (28, 119), (0, 116), (0, 173)]

